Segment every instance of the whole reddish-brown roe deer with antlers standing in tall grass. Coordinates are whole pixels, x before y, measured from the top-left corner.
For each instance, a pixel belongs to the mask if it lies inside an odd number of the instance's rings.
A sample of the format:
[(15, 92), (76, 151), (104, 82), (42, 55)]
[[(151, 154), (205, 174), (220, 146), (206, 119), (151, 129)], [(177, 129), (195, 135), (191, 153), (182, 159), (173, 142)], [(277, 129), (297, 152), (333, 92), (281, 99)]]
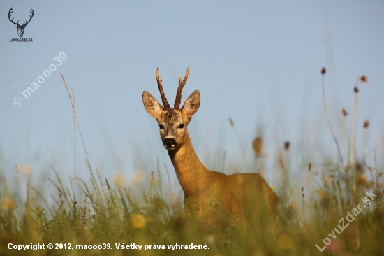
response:
[[(188, 79), (186, 69), (184, 80), (179, 75), (179, 87), (174, 108), (170, 108), (165, 97), (161, 78), (156, 71), (158, 90), (163, 106), (149, 92), (142, 93), (145, 110), (156, 118), (160, 128), (161, 141), (175, 167), (177, 178), (184, 191), (184, 210), (187, 216), (207, 218), (215, 208), (215, 219), (221, 215), (232, 225), (244, 218), (257, 219), (258, 225), (274, 225), (277, 197), (262, 176), (257, 173), (236, 173), (226, 175), (209, 171), (193, 150), (186, 128), (200, 106), (200, 92), (195, 90), (180, 109), (182, 89)], [(254, 221), (251, 221), (255, 223)], [(271, 227), (274, 229), (273, 227)], [(258, 229), (259, 231), (259, 229)], [(274, 231), (272, 231), (274, 233)]]

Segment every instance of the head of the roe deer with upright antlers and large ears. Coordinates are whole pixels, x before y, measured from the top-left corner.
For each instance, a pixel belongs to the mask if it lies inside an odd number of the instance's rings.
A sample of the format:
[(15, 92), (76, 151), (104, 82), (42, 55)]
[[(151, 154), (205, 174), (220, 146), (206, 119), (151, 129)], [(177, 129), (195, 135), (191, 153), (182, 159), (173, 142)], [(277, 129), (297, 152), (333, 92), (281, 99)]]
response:
[(182, 90), (188, 79), (189, 69), (186, 69), (184, 80), (182, 81), (179, 75), (179, 87), (177, 88), (175, 105), (170, 108), (165, 93), (163, 91), (163, 85), (161, 85), (161, 78), (158, 76), (158, 68), (156, 71), (156, 80), (158, 90), (160, 90), (161, 101), (163, 106), (149, 92), (144, 91), (142, 93), (142, 102), (145, 110), (153, 118), (156, 118), (158, 127), (160, 128), (161, 141), (167, 150), (177, 150), (189, 138), (186, 126), (191, 121), (192, 115), (194, 115), (200, 106), (200, 92), (195, 90), (186, 99), (184, 106), (180, 109), (180, 103), (182, 101)]

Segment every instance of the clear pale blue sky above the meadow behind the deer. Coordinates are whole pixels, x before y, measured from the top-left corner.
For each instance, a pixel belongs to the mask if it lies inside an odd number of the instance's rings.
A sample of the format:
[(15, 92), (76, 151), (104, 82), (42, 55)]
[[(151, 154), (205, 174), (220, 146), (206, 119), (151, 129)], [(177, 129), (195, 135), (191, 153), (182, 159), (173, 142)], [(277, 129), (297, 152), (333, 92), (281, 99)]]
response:
[[(18, 38), (8, 20), (12, 7), (20, 21), (34, 10), (23, 36), (33, 43), (10, 42)], [(189, 66), (182, 103), (200, 90), (189, 132), (208, 168), (221, 162), (224, 150), (227, 162), (251, 164), (251, 141), (261, 130), (272, 162), (284, 141), (292, 141), (297, 154), (320, 150), (336, 157), (323, 113), (323, 66), (328, 111), (343, 152), (341, 108), (353, 112), (353, 87), (364, 74), (369, 83), (360, 88), (357, 150), (362, 152), (362, 123), (369, 120), (368, 150), (383, 155), (383, 13), (383, 1), (2, 1), (3, 168), (12, 173), (15, 164), (27, 163), (49, 170), (50, 163), (63, 176), (73, 173), (73, 119), (63, 73), (76, 95), (91, 166), (108, 178), (115, 171), (131, 176), (135, 169), (155, 171), (159, 155), (175, 178), (157, 123), (142, 105), (144, 90), (160, 99), (157, 67), (173, 103), (178, 74)], [(25, 99), (22, 92), (59, 63), (59, 52), (68, 58)], [(13, 105), (15, 97), (22, 98), (21, 106)], [(77, 170), (87, 175), (79, 134), (76, 140)]]

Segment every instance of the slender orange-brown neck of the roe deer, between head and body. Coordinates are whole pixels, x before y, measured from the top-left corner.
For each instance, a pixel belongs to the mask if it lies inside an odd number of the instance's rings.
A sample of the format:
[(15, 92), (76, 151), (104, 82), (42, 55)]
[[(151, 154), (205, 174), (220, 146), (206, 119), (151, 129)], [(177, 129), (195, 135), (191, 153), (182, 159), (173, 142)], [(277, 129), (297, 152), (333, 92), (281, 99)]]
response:
[(186, 143), (178, 150), (168, 151), (168, 155), (175, 167), (177, 178), (182, 186), (185, 197), (197, 194), (204, 185), (209, 171), (202, 165), (196, 155), (191, 138), (186, 134)]

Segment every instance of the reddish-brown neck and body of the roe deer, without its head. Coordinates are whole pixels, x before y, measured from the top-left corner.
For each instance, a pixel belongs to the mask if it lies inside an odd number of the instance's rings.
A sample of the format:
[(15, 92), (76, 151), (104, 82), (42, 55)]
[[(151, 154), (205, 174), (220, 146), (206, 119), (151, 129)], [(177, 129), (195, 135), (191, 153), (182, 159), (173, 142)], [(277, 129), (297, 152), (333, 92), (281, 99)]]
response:
[[(209, 171), (193, 150), (189, 136), (178, 150), (168, 151), (177, 178), (184, 191), (186, 215), (205, 218), (212, 199), (219, 211), (234, 224), (245, 218), (257, 218), (257, 212), (269, 212), (276, 219), (277, 197), (257, 173), (226, 175)], [(267, 207), (264, 208), (263, 207)], [(258, 211), (259, 210), (259, 211)]]

